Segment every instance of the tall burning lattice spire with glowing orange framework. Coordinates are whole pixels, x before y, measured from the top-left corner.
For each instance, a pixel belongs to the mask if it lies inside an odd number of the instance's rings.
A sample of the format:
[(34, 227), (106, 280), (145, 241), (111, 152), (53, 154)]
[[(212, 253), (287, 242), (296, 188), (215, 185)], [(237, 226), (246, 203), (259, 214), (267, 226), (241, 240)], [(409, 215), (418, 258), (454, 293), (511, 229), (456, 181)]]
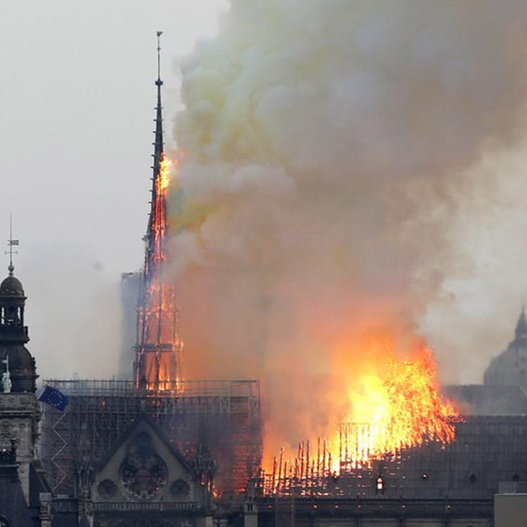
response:
[(166, 193), (170, 160), (163, 151), (163, 118), (161, 110), (160, 43), (158, 31), (157, 106), (155, 108), (155, 142), (151, 210), (146, 242), (144, 269), (141, 276), (134, 381), (136, 391), (151, 395), (176, 393), (181, 381), (183, 343), (179, 339), (178, 314), (174, 284), (167, 280), (167, 210)]

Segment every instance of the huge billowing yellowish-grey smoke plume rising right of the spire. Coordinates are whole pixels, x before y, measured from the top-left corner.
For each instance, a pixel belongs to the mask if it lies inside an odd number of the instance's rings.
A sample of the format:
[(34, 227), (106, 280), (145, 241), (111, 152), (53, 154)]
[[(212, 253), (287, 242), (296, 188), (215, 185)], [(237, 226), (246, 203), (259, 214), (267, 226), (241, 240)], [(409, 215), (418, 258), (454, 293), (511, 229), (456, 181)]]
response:
[(233, 0), (184, 64), (184, 374), (261, 379), (269, 454), (342, 418), (360, 343), (404, 348), (457, 272), (459, 207), (493, 189), (471, 169), (520, 138), (526, 22), (523, 0)]

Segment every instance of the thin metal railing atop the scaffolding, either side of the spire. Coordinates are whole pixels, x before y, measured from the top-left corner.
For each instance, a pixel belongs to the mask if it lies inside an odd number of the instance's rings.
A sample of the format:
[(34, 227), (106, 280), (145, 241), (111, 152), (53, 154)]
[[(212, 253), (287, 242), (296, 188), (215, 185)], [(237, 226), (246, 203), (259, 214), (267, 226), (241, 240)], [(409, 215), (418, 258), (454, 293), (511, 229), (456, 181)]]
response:
[[(136, 395), (134, 381), (118, 379), (46, 379), (44, 384), (49, 384), (67, 395), (101, 395), (104, 397)], [(173, 381), (173, 385), (173, 387), (167, 386), (167, 395), (172, 397), (170, 393), (177, 393), (176, 398), (260, 397), (258, 381), (192, 380)], [(160, 391), (158, 396), (163, 397), (163, 391)]]

